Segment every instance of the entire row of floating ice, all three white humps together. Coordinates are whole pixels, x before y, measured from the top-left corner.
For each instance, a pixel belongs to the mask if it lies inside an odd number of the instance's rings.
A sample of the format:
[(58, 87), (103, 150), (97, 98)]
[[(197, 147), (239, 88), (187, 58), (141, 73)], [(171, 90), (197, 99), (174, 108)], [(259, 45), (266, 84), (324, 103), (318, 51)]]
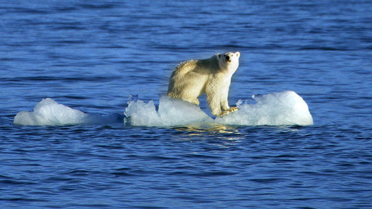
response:
[(253, 95), (254, 104), (239, 101), (239, 110), (212, 119), (199, 106), (160, 95), (159, 108), (153, 101), (145, 103), (131, 96), (124, 115), (84, 113), (58, 104), (47, 98), (37, 104), (34, 111), (21, 111), (14, 117), (14, 124), (21, 125), (76, 125), (124, 123), (132, 126), (184, 126), (208, 125), (312, 125), (308, 105), (293, 91)]

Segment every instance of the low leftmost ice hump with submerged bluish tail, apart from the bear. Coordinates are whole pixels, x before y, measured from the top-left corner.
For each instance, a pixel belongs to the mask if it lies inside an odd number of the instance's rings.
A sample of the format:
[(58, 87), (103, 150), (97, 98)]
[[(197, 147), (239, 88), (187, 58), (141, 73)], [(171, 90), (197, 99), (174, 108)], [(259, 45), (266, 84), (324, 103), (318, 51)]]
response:
[(84, 113), (77, 109), (58, 104), (47, 98), (37, 104), (33, 112), (21, 111), (14, 117), (19, 125), (67, 125), (67, 124), (107, 124), (122, 121), (119, 114), (102, 116), (98, 113)]

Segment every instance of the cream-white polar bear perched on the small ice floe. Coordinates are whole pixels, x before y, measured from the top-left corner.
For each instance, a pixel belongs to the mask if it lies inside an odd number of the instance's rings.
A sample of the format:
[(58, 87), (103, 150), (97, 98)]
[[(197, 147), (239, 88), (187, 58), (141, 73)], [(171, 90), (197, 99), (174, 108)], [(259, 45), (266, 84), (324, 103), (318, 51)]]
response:
[(240, 52), (215, 54), (209, 59), (180, 63), (168, 85), (168, 97), (199, 105), (197, 97), (207, 94), (212, 115), (224, 116), (238, 110), (227, 101), (231, 76), (239, 66)]

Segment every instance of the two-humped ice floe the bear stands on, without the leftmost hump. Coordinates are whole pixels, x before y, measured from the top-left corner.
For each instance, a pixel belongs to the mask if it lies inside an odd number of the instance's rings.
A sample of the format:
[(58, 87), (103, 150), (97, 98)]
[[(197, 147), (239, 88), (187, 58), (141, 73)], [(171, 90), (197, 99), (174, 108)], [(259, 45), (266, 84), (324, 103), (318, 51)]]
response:
[(237, 103), (239, 110), (214, 121), (198, 106), (160, 96), (159, 109), (153, 101), (130, 102), (125, 109), (127, 124), (133, 126), (179, 126), (191, 124), (221, 123), (228, 125), (312, 125), (308, 105), (293, 91), (253, 95), (256, 104)]

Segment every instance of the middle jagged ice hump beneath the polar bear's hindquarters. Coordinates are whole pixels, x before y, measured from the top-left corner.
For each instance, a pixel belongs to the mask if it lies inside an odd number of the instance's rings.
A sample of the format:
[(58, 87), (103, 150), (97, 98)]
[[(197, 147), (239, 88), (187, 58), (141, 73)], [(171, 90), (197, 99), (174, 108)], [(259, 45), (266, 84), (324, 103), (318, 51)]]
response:
[(125, 122), (134, 126), (180, 126), (212, 123), (213, 119), (199, 106), (182, 100), (160, 95), (159, 109), (156, 111), (151, 100), (145, 104), (141, 100), (130, 102), (124, 112)]

